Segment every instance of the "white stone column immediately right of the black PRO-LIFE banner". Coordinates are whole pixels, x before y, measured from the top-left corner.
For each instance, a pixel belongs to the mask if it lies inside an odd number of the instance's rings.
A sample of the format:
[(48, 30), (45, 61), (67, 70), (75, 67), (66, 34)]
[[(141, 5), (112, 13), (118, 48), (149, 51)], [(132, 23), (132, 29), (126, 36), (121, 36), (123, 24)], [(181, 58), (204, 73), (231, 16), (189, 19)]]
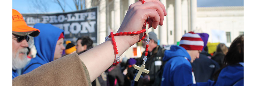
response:
[(105, 41), (105, 37), (106, 35), (106, 0), (101, 0), (100, 1), (100, 5), (99, 5), (99, 19), (98, 19), (98, 23), (99, 23), (99, 43), (101, 44)]

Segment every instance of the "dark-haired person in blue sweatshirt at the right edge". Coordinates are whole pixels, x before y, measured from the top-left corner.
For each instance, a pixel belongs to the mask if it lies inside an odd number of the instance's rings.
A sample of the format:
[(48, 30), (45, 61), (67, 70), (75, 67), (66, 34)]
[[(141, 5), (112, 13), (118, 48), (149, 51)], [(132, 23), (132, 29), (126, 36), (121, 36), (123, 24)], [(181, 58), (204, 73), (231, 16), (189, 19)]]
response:
[(214, 75), (215, 81), (193, 84), (195, 86), (243, 86), (244, 85), (244, 35), (238, 36), (230, 45), (224, 65)]

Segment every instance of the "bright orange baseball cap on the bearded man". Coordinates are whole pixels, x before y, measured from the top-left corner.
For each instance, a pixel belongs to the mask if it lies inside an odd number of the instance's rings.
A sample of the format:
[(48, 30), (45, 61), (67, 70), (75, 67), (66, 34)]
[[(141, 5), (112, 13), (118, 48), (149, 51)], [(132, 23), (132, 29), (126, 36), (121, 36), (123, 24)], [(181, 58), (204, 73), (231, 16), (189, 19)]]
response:
[(15, 9), (12, 9), (12, 33), (20, 36), (37, 36), (40, 31), (36, 28), (27, 26), (23, 16)]

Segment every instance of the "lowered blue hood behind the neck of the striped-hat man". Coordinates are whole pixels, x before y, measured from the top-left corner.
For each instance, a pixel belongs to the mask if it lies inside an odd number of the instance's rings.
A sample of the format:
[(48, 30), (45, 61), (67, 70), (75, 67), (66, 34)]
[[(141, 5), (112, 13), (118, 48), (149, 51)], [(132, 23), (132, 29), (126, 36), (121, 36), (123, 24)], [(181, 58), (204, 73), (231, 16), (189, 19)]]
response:
[(190, 61), (190, 55), (187, 53), (187, 50), (181, 46), (172, 45), (170, 50), (165, 51), (163, 61), (168, 61), (173, 57), (187, 57)]

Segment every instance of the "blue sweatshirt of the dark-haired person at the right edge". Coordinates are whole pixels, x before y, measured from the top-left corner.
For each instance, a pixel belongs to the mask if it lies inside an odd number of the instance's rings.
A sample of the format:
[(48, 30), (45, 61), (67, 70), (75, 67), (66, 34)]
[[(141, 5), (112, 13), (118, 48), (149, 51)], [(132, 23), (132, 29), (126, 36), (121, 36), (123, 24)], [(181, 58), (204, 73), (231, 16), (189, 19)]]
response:
[(208, 82), (196, 83), (194, 86), (243, 86), (244, 85), (244, 63), (229, 65), (223, 68), (216, 83)]

